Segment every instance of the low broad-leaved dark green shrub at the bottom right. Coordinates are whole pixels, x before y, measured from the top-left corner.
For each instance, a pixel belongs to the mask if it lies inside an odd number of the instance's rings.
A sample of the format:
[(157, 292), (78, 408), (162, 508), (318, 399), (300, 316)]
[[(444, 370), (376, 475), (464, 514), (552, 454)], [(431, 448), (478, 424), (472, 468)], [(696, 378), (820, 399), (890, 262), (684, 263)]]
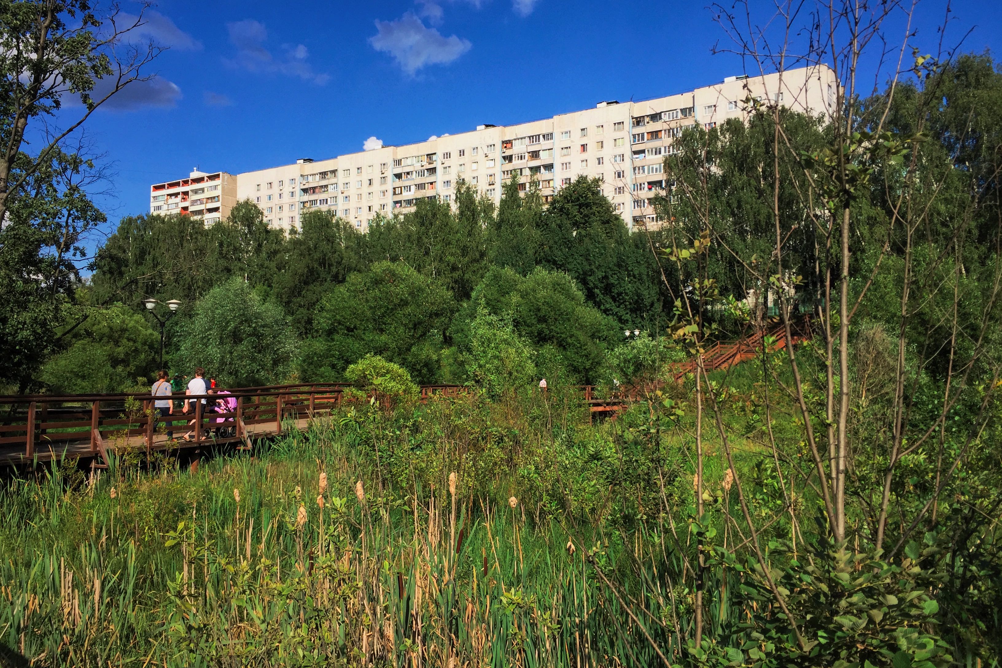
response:
[[(789, 559), (789, 566), (752, 558), (742, 565), (718, 553), (721, 565), (746, 575), (738, 598), (745, 609), (754, 602), (759, 613), (750, 621), (735, 620), (740, 630), (727, 642), (690, 647), (700, 665), (954, 665), (949, 645), (935, 633), (940, 608), (934, 592), (946, 576), (938, 548), (911, 544), (906, 556), (892, 563), (845, 548), (819, 548), (805, 555), (810, 560), (805, 563), (781, 545), (771, 547), (773, 559)], [(789, 615), (776, 602), (766, 568)]]

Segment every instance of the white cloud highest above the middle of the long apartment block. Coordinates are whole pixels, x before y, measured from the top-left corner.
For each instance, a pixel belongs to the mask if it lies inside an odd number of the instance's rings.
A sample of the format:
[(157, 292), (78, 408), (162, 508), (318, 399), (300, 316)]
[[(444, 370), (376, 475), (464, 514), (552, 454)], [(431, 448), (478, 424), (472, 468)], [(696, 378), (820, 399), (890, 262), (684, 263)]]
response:
[(426, 65), (451, 63), (470, 50), (469, 40), (456, 35), (444, 37), (427, 27), (413, 12), (396, 21), (376, 21), (377, 33), (369, 43), (377, 51), (389, 53), (405, 72), (414, 75)]

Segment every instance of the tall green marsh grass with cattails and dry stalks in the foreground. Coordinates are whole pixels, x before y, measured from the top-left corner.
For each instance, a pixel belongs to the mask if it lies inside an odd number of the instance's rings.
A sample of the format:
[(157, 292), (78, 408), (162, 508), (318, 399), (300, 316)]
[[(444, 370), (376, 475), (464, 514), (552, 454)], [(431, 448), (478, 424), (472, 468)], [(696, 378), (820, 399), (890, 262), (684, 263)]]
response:
[[(664, 521), (677, 511), (670, 490), (629, 531), (540, 512), (501, 470), (487, 493), (470, 482), (483, 475), (470, 454), (480, 427), (444, 415), (337, 415), (194, 470), (140, 473), (126, 458), (75, 489), (59, 468), (11, 483), (0, 491), (0, 644), (52, 666), (680, 660), (694, 543), (684, 521)], [(580, 419), (527, 418), (613, 429)], [(503, 417), (484, 421), (504, 431)], [(533, 438), (528, 427), (519, 437)], [(401, 444), (432, 449), (401, 459)], [(705, 591), (710, 631), (739, 613), (722, 582)]]

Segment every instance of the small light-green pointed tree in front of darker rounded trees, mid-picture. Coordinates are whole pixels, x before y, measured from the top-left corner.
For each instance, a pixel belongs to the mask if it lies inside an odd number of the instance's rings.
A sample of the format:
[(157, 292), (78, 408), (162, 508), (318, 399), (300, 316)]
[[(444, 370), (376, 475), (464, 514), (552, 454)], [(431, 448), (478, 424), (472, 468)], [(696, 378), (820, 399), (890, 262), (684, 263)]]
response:
[(495, 315), (483, 304), (470, 323), (469, 373), (490, 397), (523, 389), (536, 377), (533, 351), (510, 319)]

